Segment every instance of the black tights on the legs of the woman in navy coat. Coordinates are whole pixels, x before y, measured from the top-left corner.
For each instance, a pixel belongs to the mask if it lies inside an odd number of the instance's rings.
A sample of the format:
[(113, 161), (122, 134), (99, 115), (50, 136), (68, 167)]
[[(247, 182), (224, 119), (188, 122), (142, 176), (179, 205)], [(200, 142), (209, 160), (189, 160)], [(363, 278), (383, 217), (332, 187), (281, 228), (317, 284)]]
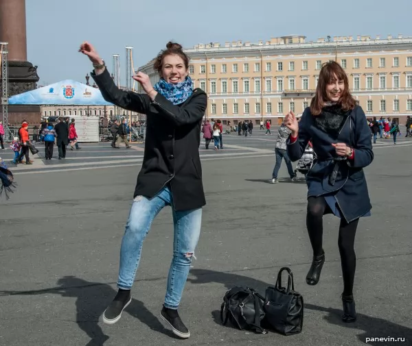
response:
[[(326, 208), (329, 208), (324, 197), (309, 197), (308, 198), (308, 213), (306, 214), (306, 227), (310, 243), (312, 244), (313, 255), (319, 256), (323, 253), (322, 238), (323, 238), (323, 214)], [(347, 223), (345, 219), (341, 219), (339, 225), (339, 253), (341, 254), (341, 266), (343, 274), (343, 295), (348, 296), (353, 294), (354, 278), (356, 269), (356, 255), (354, 250), (356, 228), (358, 227), (359, 219)]]

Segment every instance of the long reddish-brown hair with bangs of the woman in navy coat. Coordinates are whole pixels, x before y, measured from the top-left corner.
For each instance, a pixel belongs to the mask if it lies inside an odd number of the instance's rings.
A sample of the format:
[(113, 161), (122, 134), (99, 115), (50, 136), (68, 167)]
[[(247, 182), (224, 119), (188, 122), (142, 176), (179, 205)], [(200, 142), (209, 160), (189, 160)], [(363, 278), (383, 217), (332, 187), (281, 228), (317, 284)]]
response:
[(349, 81), (345, 70), (343, 70), (341, 65), (337, 62), (330, 61), (323, 64), (321, 73), (319, 73), (319, 82), (316, 88), (316, 93), (310, 102), (310, 112), (312, 115), (321, 114), (325, 102), (329, 101), (326, 95), (326, 86), (331, 82), (334, 82), (335, 78), (343, 80), (343, 84), (345, 85), (338, 103), (343, 110), (353, 110), (355, 108), (357, 102), (349, 91)]

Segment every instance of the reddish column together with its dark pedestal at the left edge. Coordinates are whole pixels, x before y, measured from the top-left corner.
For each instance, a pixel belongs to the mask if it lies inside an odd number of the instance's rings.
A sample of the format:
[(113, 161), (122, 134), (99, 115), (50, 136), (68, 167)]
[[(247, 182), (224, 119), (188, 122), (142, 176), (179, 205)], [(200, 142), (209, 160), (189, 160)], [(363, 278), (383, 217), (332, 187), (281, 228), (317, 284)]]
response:
[(9, 97), (34, 90), (39, 77), (27, 61), (25, 0), (0, 1), (0, 41), (8, 42)]

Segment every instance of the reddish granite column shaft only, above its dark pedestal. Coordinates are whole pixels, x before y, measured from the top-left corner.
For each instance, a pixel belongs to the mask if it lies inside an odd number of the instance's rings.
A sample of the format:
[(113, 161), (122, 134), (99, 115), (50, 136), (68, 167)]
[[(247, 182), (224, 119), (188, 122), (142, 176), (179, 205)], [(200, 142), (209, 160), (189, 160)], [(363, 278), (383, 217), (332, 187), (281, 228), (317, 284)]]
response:
[(8, 60), (27, 61), (25, 0), (0, 1), (0, 41), (8, 42)]

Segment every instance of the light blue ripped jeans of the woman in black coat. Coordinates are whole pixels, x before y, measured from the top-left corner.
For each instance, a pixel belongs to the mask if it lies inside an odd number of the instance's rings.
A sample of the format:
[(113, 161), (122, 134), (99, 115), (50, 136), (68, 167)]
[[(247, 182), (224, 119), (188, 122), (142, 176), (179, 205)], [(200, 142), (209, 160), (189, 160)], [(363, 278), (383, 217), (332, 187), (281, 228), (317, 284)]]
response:
[[(165, 206), (173, 206), (170, 188), (163, 188), (155, 197), (135, 197), (126, 223), (120, 249), (120, 269), (117, 287), (128, 290), (135, 281), (141, 247), (153, 219)], [(168, 275), (165, 308), (177, 309), (185, 288), (194, 249), (201, 234), (202, 208), (176, 211), (172, 208), (174, 224), (173, 258)]]

